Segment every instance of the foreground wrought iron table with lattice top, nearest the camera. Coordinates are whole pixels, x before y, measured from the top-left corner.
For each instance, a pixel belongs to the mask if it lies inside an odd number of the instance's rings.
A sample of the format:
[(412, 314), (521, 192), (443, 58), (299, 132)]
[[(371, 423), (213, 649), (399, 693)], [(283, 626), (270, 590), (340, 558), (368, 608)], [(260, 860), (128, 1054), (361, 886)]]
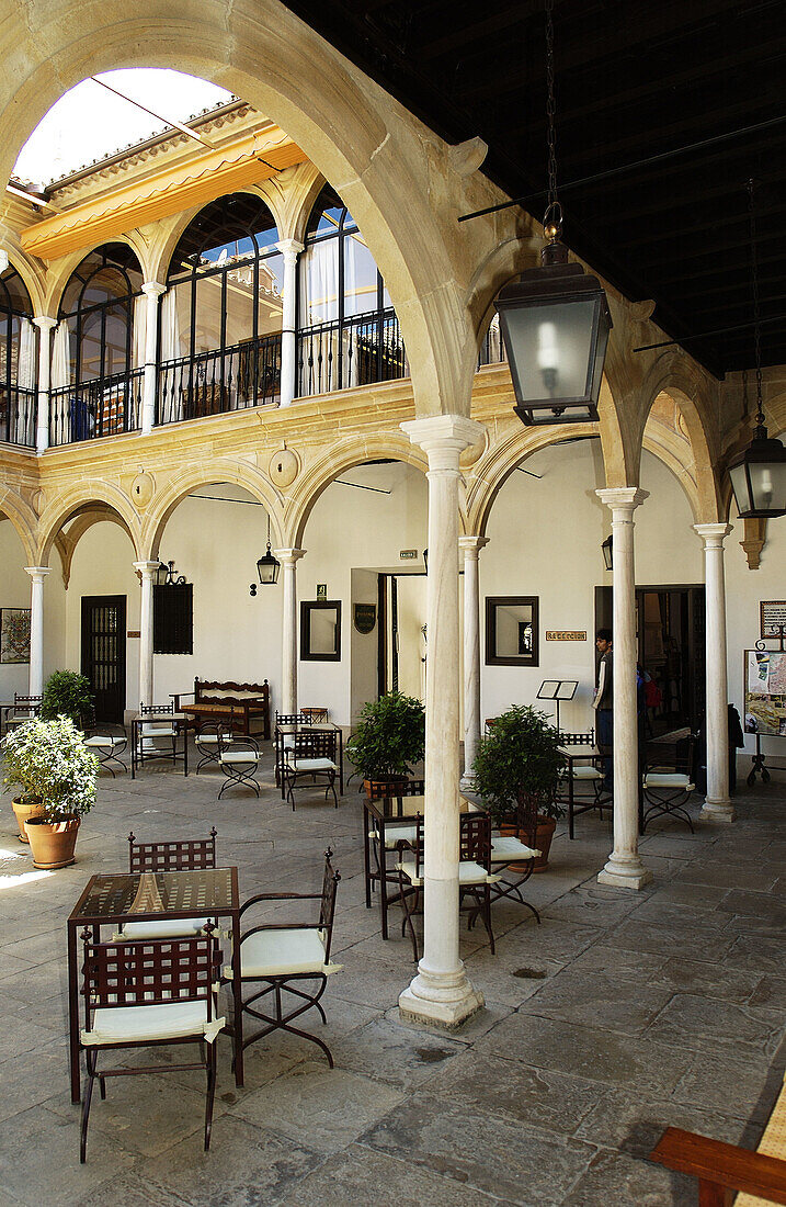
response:
[(135, 922), (162, 919), (174, 921), (205, 915), (231, 919), (235, 1084), (244, 1084), (237, 869), (99, 875), (87, 882), (68, 920), (71, 1102), (81, 1100), (78, 932), (88, 928), (93, 932), (94, 941), (99, 941), (102, 926), (117, 926), (129, 919)]

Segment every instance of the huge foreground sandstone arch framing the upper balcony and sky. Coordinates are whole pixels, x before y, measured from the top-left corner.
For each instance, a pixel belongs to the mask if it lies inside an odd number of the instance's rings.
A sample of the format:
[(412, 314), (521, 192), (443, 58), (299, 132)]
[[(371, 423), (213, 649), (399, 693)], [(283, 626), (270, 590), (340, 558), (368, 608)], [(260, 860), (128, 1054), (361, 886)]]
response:
[[(332, 181), (363, 229), (407, 346), (418, 414), (469, 412), (473, 337), (459, 257), (432, 164), (444, 144), (274, 0), (227, 8), (194, 0), (187, 18), (164, 0), (122, 14), (90, 0), (53, 0), (33, 30), (17, 10), (0, 91), (0, 161), (49, 105), (89, 74), (176, 68), (230, 88), (286, 129)], [(450, 238), (448, 238), (450, 235)]]

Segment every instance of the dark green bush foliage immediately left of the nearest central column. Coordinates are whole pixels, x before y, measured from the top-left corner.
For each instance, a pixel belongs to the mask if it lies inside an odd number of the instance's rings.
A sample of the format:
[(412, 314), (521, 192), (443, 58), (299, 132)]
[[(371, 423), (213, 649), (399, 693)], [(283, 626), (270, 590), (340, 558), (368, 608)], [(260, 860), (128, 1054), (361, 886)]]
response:
[(347, 753), (364, 780), (411, 775), (424, 751), (426, 710), (420, 700), (400, 692), (364, 704), (347, 742)]

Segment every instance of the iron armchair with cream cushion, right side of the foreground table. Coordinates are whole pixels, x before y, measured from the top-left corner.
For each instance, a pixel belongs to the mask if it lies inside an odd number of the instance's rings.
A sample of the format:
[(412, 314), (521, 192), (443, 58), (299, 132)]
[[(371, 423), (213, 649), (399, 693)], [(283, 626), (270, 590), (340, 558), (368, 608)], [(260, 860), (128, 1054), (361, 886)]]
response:
[[(330, 1049), (317, 1036), (293, 1026), (301, 1014), (316, 1008), (323, 1022), (327, 1018), (319, 998), (325, 991), (328, 976), (341, 970), (340, 964), (330, 962), (330, 943), (333, 939), (333, 919), (335, 915), (335, 894), (341, 879), (334, 871), (333, 851), (324, 853), (324, 873), (321, 893), (258, 893), (250, 897), (240, 909), (241, 919), (247, 910), (263, 902), (319, 902), (319, 912), (310, 922), (282, 922), (281, 910), (276, 911), (275, 922), (263, 922), (251, 926), (240, 937), (240, 974), (244, 984), (259, 984), (251, 997), (242, 1003), (242, 1009), (263, 1026), (253, 1034), (245, 1036), (244, 1049), (256, 1043), (271, 1031), (286, 1031), (303, 1039), (310, 1039), (328, 1057), (333, 1068)], [(234, 954), (235, 958), (237, 954)], [(233, 985), (233, 969), (223, 969), (223, 981)], [(305, 985), (316, 981), (316, 991), (307, 991)], [(288, 993), (294, 1003), (285, 1002)], [(272, 1013), (262, 1008), (270, 1001)], [(244, 1028), (245, 1031), (245, 1028)]]

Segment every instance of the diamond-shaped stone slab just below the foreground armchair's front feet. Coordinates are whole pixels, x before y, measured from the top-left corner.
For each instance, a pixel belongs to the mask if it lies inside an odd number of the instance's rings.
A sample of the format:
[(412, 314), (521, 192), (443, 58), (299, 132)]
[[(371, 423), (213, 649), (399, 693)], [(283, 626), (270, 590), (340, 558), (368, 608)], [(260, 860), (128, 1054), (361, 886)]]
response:
[(246, 1095), (233, 1114), (318, 1153), (346, 1148), (404, 1100), (382, 1081), (304, 1061), (262, 1090)]

